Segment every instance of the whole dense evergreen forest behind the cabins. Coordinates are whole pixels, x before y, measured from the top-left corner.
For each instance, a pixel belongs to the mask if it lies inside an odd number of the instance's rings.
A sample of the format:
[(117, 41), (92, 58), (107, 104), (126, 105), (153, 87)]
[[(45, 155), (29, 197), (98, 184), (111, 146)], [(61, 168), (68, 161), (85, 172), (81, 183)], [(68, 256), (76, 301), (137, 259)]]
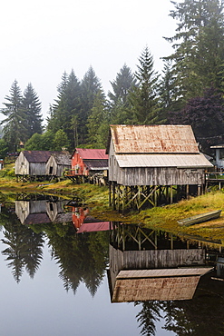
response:
[[(41, 102), (32, 84), (15, 80), (5, 96), (0, 156), (26, 150), (105, 148), (110, 124), (190, 124), (200, 149), (224, 141), (224, 13), (222, 0), (171, 1), (175, 35), (164, 37), (172, 54), (154, 69), (150, 46), (137, 71), (127, 64), (105, 94), (90, 67), (83, 79), (63, 73), (43, 127)], [(165, 31), (165, 27), (164, 27)], [(149, 35), (151, 33), (149, 32)]]

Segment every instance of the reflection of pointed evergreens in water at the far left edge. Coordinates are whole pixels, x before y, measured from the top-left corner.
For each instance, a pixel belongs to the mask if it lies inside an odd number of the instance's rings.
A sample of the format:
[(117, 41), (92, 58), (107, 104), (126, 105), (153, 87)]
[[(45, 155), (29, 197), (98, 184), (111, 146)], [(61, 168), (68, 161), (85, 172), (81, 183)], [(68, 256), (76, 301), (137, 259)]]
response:
[(43, 259), (43, 233), (34, 233), (22, 225), (15, 214), (10, 214), (4, 227), (5, 238), (2, 242), (8, 247), (2, 254), (7, 257), (6, 261), (9, 262), (8, 267), (12, 268), (15, 281), (20, 282), (24, 268), (34, 278), (34, 273)]

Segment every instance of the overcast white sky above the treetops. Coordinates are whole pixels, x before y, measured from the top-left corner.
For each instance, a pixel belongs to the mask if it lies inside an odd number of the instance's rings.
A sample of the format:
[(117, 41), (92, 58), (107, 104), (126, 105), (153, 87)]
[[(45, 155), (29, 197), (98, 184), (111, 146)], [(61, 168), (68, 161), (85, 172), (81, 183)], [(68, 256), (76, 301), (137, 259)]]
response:
[(64, 71), (81, 80), (92, 65), (107, 94), (148, 45), (161, 73), (160, 57), (172, 52), (162, 36), (177, 27), (170, 0), (7, 0), (0, 8), (0, 107), (16, 79), (22, 92), (33, 84), (44, 118)]

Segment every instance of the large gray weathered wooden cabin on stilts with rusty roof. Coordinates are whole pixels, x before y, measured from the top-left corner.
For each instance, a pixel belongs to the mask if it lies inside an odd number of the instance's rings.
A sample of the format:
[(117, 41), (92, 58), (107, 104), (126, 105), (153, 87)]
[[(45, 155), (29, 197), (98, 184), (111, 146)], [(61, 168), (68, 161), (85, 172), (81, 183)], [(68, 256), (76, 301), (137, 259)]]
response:
[(190, 125), (112, 125), (107, 153), (110, 202), (117, 210), (133, 202), (138, 209), (146, 201), (154, 206), (168, 191), (172, 203), (173, 188), (188, 195), (194, 186), (202, 193), (212, 167)]

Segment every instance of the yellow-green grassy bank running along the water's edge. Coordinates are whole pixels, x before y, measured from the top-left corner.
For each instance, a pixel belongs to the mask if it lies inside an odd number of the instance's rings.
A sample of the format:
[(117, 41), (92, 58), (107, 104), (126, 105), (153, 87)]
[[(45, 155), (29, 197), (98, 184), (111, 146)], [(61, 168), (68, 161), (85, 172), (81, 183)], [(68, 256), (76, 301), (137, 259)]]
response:
[[(93, 215), (104, 221), (144, 223), (148, 227), (166, 230), (173, 233), (200, 235), (206, 239), (224, 241), (224, 193), (214, 192), (191, 198), (189, 201), (167, 205), (164, 207), (129, 212), (122, 215), (112, 212), (108, 204), (108, 188), (89, 183), (74, 184), (68, 180), (60, 183), (16, 183), (15, 178), (0, 178), (2, 195), (16, 193), (51, 193), (65, 197), (80, 197), (93, 209)], [(222, 209), (220, 218), (190, 227), (180, 227), (177, 221), (195, 214)]]

